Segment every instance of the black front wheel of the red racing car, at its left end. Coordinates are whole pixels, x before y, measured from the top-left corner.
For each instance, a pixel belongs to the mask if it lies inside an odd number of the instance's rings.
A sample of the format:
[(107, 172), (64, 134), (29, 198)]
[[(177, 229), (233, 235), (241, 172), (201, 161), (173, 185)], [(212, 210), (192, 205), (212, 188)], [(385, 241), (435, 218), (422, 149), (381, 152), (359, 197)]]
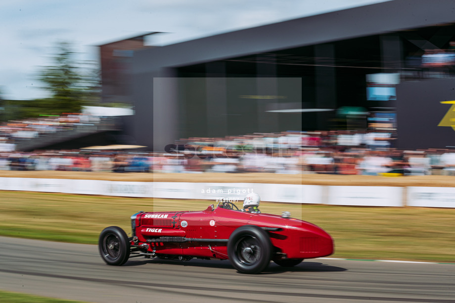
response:
[(106, 227), (99, 235), (98, 250), (106, 264), (123, 265), (130, 257), (130, 241), (122, 228)]

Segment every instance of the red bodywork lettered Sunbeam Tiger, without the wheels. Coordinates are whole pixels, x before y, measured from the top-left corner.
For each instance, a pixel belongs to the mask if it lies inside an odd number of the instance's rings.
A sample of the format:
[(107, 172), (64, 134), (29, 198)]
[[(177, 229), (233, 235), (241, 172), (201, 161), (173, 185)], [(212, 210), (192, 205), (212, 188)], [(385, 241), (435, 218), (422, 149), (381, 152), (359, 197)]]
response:
[[(135, 216), (132, 224), (137, 238), (133, 238), (131, 244), (146, 243), (147, 251), (158, 256), (228, 259), (227, 240), (236, 228), (244, 225), (266, 227), (273, 245), (273, 258), (309, 259), (333, 253), (333, 240), (320, 227), (272, 214), (252, 214), (210, 205), (203, 211), (148, 212)], [(165, 237), (187, 241), (159, 242)]]

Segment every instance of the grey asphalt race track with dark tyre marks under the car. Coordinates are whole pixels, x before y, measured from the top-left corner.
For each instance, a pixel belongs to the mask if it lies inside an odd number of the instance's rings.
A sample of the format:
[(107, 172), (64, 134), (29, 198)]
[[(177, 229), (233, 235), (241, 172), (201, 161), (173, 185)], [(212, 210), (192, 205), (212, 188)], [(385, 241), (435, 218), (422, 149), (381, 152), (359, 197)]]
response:
[(312, 259), (248, 275), (229, 261), (109, 266), (95, 245), (0, 237), (0, 289), (99, 303), (454, 303), (455, 265)]

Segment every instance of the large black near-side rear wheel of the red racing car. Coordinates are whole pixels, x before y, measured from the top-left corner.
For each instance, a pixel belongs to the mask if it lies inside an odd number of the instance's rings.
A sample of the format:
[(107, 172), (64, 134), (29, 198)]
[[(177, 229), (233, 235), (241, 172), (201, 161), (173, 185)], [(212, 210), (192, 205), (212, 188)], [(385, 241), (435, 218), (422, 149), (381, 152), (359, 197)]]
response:
[(235, 269), (242, 273), (258, 273), (269, 265), (272, 242), (261, 227), (245, 225), (235, 229), (227, 241), (227, 255)]

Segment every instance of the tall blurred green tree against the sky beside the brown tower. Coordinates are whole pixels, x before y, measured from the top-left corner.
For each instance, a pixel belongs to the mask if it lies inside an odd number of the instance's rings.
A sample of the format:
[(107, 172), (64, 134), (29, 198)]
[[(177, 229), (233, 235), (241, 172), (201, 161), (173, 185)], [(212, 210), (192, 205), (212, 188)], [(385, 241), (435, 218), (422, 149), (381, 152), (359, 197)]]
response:
[(35, 100), (42, 114), (78, 113), (97, 100), (99, 73), (89, 62), (78, 62), (69, 42), (57, 43), (53, 64), (39, 71), (50, 98)]

